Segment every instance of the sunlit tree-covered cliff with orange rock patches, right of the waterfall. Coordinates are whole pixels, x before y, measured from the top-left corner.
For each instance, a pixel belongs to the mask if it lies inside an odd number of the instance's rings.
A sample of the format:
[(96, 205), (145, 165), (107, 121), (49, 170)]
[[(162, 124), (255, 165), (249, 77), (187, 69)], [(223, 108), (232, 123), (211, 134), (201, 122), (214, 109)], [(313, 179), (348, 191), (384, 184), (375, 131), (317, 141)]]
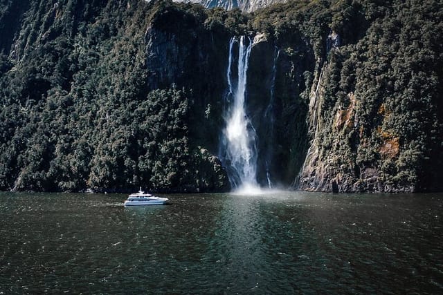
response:
[[(438, 17), (425, 21), (427, 13), (442, 7), (403, 9), (399, 15), (406, 9), (417, 19), (410, 22), (388, 11), (363, 38), (343, 38), (343, 46), (338, 34), (329, 35), (326, 58), (316, 62), (309, 94), (311, 143), (300, 189), (442, 189), (435, 178), (442, 164), (442, 104), (437, 95), (442, 71), (436, 68), (442, 59), (433, 51), (435, 40), (427, 39)], [(426, 28), (428, 37), (417, 34), (415, 26)], [(414, 45), (428, 42), (425, 39), (430, 42), (427, 53)]]

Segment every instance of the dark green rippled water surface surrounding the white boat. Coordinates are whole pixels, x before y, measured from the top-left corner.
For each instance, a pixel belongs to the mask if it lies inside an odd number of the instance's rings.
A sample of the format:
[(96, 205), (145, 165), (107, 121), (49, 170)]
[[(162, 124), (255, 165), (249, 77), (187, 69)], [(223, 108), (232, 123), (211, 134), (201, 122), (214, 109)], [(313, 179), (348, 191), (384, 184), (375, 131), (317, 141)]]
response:
[(0, 193), (0, 294), (443, 293), (443, 194)]

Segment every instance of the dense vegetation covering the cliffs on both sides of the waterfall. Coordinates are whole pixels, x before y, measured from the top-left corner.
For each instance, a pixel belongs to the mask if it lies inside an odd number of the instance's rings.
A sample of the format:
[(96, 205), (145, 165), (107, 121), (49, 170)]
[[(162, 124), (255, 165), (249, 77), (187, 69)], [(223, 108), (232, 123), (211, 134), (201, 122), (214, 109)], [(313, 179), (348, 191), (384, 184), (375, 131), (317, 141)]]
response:
[[(168, 32), (171, 52), (198, 48), (199, 59), (154, 75), (147, 30)], [(300, 0), (251, 14), (170, 1), (1, 1), (0, 189), (228, 189), (214, 156), (225, 82), (210, 78), (225, 73), (229, 37), (256, 32), (281, 53), (280, 181), (295, 180), (311, 142), (305, 165), (323, 179), (315, 189), (443, 189), (438, 0)]]

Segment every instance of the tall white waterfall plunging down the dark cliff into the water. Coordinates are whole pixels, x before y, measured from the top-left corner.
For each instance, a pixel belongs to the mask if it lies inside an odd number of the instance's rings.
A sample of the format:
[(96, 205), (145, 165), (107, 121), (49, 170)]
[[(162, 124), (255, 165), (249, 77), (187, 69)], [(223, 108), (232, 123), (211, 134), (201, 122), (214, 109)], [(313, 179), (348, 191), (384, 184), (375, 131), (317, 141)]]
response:
[[(237, 84), (233, 84), (233, 47), (238, 44)], [(220, 158), (228, 171), (231, 187), (258, 187), (257, 147), (255, 130), (246, 114), (246, 74), (252, 41), (244, 36), (233, 37), (229, 42), (229, 59), (226, 78), (228, 81), (228, 107), (224, 115), (226, 127), (221, 135)]]

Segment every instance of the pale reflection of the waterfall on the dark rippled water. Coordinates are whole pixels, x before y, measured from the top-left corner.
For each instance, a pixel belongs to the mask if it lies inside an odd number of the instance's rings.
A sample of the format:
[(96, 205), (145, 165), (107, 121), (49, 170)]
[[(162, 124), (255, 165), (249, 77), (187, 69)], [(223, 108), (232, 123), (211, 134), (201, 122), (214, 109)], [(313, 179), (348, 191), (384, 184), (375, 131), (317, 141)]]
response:
[[(260, 202), (256, 198), (226, 198), (217, 222), (215, 239), (210, 241), (208, 257), (217, 264), (217, 283), (227, 283), (230, 292), (239, 286), (254, 289), (263, 276), (262, 224)], [(228, 278), (228, 280), (226, 280)]]

